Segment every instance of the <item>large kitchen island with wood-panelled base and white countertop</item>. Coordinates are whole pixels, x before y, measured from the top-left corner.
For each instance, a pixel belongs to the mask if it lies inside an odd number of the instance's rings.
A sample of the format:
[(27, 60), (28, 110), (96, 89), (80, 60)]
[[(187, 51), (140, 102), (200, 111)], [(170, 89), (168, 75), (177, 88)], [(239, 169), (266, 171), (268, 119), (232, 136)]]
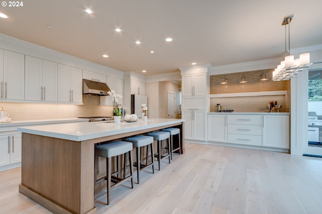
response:
[(96, 213), (94, 206), (94, 150), (96, 143), (124, 139), (169, 127), (182, 119), (149, 119), (119, 125), (82, 122), (18, 128), (22, 132), (19, 192), (54, 213)]

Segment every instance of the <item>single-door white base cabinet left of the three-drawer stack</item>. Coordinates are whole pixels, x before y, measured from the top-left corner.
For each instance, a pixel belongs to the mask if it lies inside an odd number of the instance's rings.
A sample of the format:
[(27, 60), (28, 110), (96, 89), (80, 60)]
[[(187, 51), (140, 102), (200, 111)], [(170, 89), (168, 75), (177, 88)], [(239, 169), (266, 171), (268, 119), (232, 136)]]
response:
[(227, 142), (227, 115), (208, 115), (208, 141)]

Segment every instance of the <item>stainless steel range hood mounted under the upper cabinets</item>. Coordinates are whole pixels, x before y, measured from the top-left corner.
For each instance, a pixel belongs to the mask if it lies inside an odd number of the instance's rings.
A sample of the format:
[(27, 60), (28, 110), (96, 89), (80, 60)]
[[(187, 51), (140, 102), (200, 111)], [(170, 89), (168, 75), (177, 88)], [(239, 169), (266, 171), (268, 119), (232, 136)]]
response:
[(104, 82), (95, 82), (87, 79), (83, 79), (83, 94), (106, 96), (110, 90)]

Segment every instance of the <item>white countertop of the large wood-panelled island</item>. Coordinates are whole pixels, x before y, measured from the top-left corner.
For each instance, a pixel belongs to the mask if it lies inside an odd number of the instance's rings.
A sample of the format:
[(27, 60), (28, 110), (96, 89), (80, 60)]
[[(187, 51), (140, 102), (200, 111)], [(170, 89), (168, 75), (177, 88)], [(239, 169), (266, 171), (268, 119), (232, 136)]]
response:
[(110, 122), (81, 122), (20, 127), (18, 128), (18, 131), (65, 140), (84, 141), (159, 126), (172, 125), (184, 121), (185, 120), (183, 119), (148, 119), (147, 121), (137, 121), (134, 123), (121, 122), (120, 124)]

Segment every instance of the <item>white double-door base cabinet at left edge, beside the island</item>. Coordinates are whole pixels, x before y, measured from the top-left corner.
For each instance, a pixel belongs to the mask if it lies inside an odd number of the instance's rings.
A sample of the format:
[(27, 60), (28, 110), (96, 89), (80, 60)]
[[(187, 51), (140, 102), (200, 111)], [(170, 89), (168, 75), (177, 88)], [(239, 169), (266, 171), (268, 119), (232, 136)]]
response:
[(21, 162), (21, 134), (0, 136), (0, 166)]

